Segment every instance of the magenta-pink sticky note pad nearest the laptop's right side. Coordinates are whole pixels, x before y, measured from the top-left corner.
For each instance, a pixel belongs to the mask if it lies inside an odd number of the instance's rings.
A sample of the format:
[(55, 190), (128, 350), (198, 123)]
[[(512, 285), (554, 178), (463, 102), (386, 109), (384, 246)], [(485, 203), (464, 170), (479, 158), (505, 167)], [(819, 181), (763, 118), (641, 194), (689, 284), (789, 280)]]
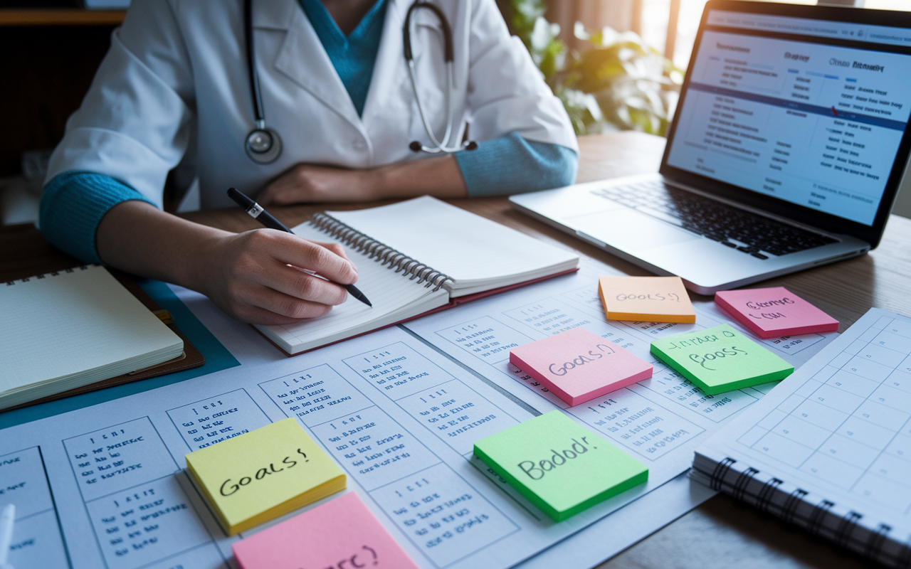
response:
[(760, 338), (838, 331), (838, 320), (784, 287), (722, 290), (715, 304)]

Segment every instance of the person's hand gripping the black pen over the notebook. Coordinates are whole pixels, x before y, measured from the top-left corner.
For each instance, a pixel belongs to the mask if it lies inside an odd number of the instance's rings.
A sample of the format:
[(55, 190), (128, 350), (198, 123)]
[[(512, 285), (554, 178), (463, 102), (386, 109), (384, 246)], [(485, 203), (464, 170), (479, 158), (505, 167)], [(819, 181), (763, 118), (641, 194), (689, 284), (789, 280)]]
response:
[(335, 283), (357, 280), (357, 269), (341, 246), (274, 229), (221, 237), (200, 257), (197, 290), (230, 316), (251, 324), (291, 324), (322, 316), (347, 297)]

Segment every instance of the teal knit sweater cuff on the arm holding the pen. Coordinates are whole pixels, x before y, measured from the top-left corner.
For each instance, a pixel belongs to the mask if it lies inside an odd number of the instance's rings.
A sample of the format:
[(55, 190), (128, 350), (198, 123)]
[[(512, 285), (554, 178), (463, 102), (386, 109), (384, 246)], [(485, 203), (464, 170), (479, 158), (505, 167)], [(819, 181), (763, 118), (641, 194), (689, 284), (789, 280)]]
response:
[(114, 178), (94, 172), (64, 172), (48, 182), (41, 195), (41, 232), (51, 244), (73, 257), (100, 263), (95, 234), (101, 218), (110, 208), (130, 199), (152, 204)]

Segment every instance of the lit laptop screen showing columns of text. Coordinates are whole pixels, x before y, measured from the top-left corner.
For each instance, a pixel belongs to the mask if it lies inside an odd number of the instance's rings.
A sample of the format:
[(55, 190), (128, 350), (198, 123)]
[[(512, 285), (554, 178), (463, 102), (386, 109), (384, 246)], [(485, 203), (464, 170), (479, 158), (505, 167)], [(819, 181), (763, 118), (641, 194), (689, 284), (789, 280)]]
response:
[(711, 6), (665, 163), (872, 226), (911, 114), (911, 30)]

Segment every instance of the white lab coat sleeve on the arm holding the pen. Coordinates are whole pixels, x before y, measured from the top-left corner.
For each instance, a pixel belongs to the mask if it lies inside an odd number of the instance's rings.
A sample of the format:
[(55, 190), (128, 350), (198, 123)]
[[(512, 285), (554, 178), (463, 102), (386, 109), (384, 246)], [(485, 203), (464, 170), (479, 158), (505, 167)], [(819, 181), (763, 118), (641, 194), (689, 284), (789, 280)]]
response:
[(82, 106), (67, 121), (47, 181), (63, 172), (97, 172), (162, 206), (165, 178), (189, 145), (195, 107), (173, 8), (169, 0), (130, 5)]

